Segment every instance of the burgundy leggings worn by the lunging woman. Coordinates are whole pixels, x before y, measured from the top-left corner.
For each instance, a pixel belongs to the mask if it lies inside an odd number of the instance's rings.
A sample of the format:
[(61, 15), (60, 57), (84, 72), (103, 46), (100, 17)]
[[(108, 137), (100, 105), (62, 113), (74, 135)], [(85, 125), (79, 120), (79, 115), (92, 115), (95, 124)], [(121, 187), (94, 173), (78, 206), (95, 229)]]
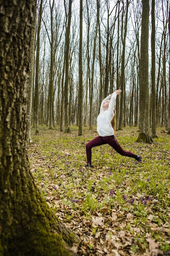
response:
[(126, 157), (133, 157), (137, 158), (137, 155), (134, 155), (130, 151), (125, 151), (123, 148), (119, 145), (118, 141), (115, 139), (114, 135), (112, 136), (106, 136), (101, 137), (98, 136), (95, 139), (92, 139), (86, 144), (86, 154), (87, 154), (87, 163), (91, 164), (92, 160), (92, 148), (96, 146), (101, 146), (104, 144), (109, 144), (112, 148), (114, 148), (120, 155), (124, 155)]

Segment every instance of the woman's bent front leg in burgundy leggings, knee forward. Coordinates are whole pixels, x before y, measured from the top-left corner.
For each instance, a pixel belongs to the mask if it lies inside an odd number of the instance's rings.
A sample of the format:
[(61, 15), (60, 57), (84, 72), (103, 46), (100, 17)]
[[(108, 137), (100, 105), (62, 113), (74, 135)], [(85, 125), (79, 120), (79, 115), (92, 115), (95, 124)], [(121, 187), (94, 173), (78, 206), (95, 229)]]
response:
[(87, 155), (87, 164), (91, 165), (91, 161), (92, 161), (92, 148), (96, 147), (96, 146), (101, 146), (103, 144), (107, 144), (107, 142), (105, 142), (103, 139), (103, 137), (96, 137), (95, 139), (92, 139), (91, 141), (89, 141), (86, 144), (86, 155)]

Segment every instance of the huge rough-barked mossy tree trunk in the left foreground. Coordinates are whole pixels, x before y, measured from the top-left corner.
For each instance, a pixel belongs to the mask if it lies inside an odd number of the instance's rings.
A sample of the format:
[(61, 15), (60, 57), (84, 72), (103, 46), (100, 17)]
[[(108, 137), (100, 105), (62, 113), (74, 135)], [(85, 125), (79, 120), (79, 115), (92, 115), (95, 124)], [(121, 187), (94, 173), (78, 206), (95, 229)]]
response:
[(0, 13), (0, 256), (75, 255), (35, 186), (26, 147), (26, 110), (35, 0), (5, 0)]

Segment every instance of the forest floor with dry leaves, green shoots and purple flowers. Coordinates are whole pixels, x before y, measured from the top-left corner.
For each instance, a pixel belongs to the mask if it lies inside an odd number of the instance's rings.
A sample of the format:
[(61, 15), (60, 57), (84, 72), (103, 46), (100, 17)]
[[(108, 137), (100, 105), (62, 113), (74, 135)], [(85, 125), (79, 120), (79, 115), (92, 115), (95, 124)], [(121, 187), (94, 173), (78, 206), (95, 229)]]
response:
[(70, 130), (40, 126), (35, 135), (32, 128), (28, 157), (46, 202), (81, 239), (75, 255), (170, 255), (170, 135), (160, 128), (153, 144), (143, 144), (135, 142), (137, 128), (123, 128), (118, 142), (142, 163), (103, 145), (92, 149), (94, 168), (85, 168), (96, 128), (82, 136)]

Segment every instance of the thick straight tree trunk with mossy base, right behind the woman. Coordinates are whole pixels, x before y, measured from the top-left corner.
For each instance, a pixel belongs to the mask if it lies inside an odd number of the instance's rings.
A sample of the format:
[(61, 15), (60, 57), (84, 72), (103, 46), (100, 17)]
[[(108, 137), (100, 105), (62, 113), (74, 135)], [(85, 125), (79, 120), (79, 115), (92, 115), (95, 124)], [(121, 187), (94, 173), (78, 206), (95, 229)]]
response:
[(137, 141), (152, 143), (149, 111), (148, 38), (149, 0), (142, 0), (142, 29), (139, 61), (139, 137)]

